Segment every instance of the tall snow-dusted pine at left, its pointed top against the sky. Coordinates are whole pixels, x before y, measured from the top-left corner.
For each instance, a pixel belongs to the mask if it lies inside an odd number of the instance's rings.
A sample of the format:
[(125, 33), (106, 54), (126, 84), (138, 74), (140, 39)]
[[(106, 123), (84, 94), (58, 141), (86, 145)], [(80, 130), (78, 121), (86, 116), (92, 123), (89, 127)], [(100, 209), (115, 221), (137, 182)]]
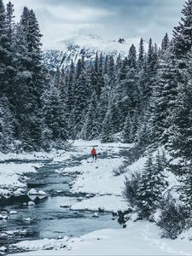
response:
[[(41, 34), (34, 12), (25, 8), (17, 27), (16, 60), (18, 70), (15, 76), (16, 134), (24, 149), (41, 148), (42, 116), (41, 96), (44, 90), (45, 74), (41, 61)], [(23, 51), (23, 52), (22, 52)], [(20, 99), (20, 100), (19, 100)]]

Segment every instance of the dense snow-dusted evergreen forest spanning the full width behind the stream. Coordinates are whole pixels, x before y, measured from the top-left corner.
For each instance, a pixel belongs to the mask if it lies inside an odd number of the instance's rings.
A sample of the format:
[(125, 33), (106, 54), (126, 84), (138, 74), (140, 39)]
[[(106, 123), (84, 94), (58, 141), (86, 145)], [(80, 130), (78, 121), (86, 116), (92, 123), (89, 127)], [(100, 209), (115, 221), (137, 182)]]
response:
[(79, 59), (55, 73), (44, 67), (41, 32), (32, 9), (15, 23), (0, 0), (0, 149), (62, 148), (67, 139), (117, 139), (165, 145), (189, 159), (192, 149), (192, 3), (159, 47), (141, 38), (129, 54)]

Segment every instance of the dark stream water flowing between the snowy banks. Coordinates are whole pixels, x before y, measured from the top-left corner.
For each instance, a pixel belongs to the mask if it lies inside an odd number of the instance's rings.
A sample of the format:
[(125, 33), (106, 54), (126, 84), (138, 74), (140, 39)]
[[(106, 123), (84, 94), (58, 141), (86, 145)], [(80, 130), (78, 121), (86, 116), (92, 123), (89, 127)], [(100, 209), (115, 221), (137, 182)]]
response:
[[(37, 173), (28, 174), (28, 189), (44, 190), (48, 197), (23, 195), (0, 201), (0, 212), (18, 212), (9, 215), (7, 220), (0, 220), (0, 247), (9, 249), (9, 245), (23, 240), (81, 236), (94, 230), (120, 228), (111, 213), (103, 212), (99, 218), (94, 218), (93, 212), (70, 210), (70, 205), (85, 195), (72, 195), (69, 183), (73, 177), (62, 176), (55, 170), (63, 166), (78, 166), (80, 160), (82, 157), (65, 163), (47, 163)], [(34, 201), (35, 206), (28, 206), (28, 201)], [(31, 218), (31, 221), (26, 218)]]

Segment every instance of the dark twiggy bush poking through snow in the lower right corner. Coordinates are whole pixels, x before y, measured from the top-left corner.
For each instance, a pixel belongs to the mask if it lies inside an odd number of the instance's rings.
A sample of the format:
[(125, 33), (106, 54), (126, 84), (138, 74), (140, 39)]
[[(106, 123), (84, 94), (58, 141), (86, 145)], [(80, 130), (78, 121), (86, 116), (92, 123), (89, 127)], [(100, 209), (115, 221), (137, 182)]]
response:
[(157, 223), (162, 230), (162, 237), (176, 239), (183, 230), (189, 229), (191, 220), (185, 207), (172, 198), (163, 202), (162, 207), (160, 221)]

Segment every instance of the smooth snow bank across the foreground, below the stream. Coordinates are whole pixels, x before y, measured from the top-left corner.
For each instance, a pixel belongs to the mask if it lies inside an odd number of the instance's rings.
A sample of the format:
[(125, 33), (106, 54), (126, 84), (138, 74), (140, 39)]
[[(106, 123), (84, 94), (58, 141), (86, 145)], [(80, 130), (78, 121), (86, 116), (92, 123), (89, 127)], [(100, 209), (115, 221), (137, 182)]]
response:
[[(61, 244), (66, 248), (62, 249)], [(144, 221), (130, 223), (124, 230), (97, 230), (64, 241), (23, 241), (17, 244), (18, 247), (33, 249), (44, 245), (57, 250), (18, 255), (191, 255), (192, 251), (190, 241), (161, 239), (159, 228)]]

